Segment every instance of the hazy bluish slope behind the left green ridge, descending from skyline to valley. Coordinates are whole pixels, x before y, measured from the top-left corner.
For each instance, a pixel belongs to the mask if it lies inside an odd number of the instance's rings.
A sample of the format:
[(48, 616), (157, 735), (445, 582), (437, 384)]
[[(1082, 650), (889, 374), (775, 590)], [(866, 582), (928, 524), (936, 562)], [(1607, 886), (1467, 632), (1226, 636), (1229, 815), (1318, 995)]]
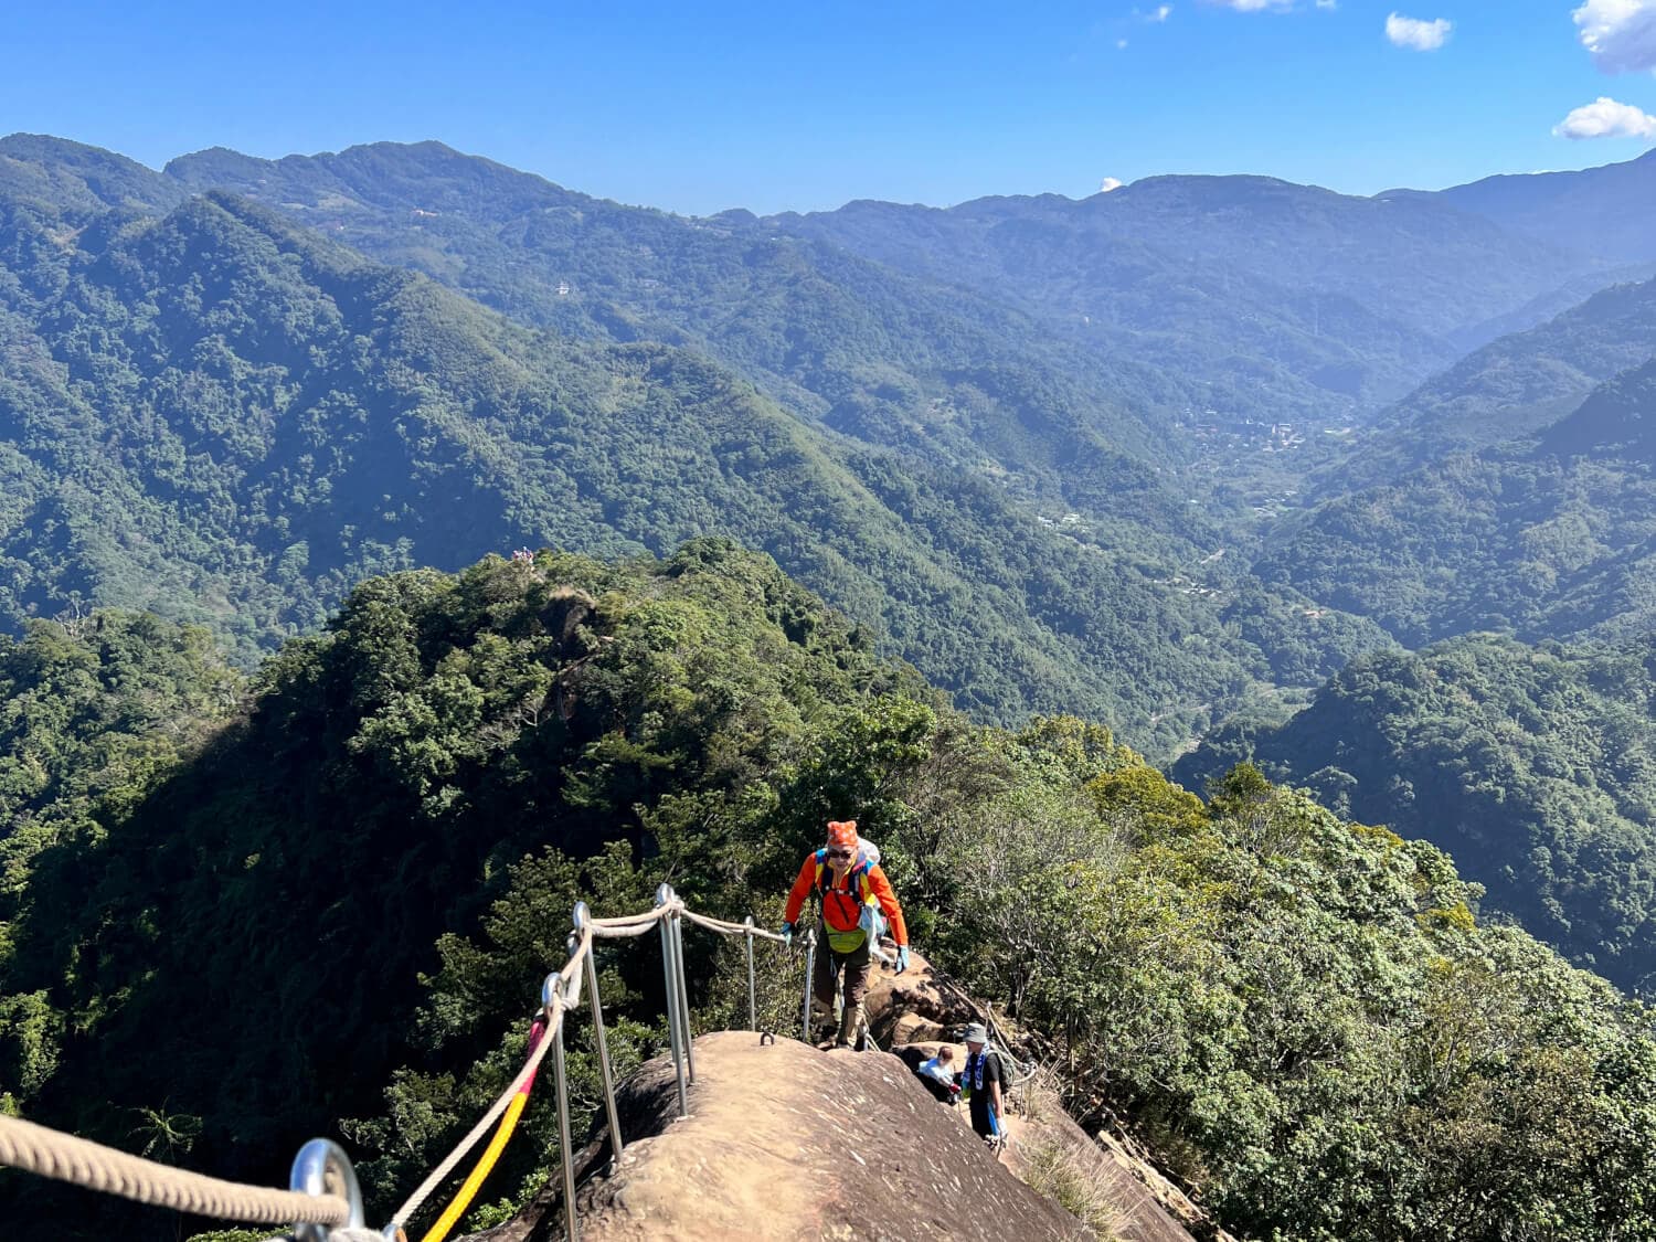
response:
[(258, 199), (525, 323), (691, 344), (802, 416), (932, 467), (1159, 530), (1197, 527), (1146, 489), (1146, 464), (1182, 454), (1139, 397), (1172, 404), (1186, 389), (1143, 366), (1123, 386), (1023, 315), (780, 238), (745, 214), (624, 207), (440, 142), (282, 161), (205, 151), (166, 174)]

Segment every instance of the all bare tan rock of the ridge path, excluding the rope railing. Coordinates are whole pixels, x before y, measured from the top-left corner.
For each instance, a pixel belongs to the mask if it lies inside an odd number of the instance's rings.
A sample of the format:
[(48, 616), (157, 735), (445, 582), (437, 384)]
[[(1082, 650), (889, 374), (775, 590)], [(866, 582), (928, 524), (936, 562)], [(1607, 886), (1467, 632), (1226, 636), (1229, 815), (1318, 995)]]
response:
[[(1124, 1161), (1091, 1141), (1052, 1098), (1017, 1088), (1022, 1113), (999, 1156), (964, 1108), (921, 1085), (912, 1063), (977, 1017), (919, 957), (904, 975), (881, 969), (869, 1020), (893, 1052), (820, 1050), (755, 1032), (694, 1040), (696, 1081), (679, 1116), (669, 1057), (618, 1093), (626, 1148), (609, 1167), (598, 1138), (581, 1154), (576, 1206), (586, 1242), (656, 1239), (884, 1239), (1038, 1242), (1098, 1237), (1020, 1176), (1032, 1153), (1058, 1144), (1110, 1204), (1119, 1242), (1191, 1242)], [(916, 1042), (904, 1042), (912, 1035)], [(965, 1050), (959, 1057), (964, 1060)], [(469, 1242), (565, 1237), (558, 1184), (513, 1220)]]

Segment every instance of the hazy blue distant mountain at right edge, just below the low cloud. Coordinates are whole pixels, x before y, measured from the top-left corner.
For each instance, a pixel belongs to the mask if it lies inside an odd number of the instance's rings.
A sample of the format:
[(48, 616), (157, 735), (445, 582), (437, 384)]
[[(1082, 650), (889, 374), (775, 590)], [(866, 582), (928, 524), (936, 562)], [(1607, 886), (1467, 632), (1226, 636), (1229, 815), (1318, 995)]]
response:
[(1649, 224), (1649, 205), (1656, 202), (1656, 151), (1580, 172), (1485, 177), (1434, 194), (1393, 194), (1446, 202), (1578, 253), (1625, 263), (1656, 260), (1656, 232)]

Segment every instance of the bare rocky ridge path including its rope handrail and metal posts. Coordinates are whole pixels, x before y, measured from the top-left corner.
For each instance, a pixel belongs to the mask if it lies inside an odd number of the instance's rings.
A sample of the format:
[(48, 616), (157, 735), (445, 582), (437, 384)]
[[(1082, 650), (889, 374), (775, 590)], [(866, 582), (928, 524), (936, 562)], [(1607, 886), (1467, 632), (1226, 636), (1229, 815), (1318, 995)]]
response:
[[(692, 1038), (686, 924), (745, 942), (750, 1030)], [(661, 939), (669, 1052), (618, 1085), (593, 946), (646, 936)], [(1191, 1220), (1202, 1239), (1227, 1242), (1154, 1169), (1119, 1146), (1090, 1139), (1042, 1086), (1033, 1065), (1018, 1065), (1009, 1055), (1010, 1043), (994, 1013), (917, 956), (903, 975), (879, 969), (868, 995), (868, 1052), (821, 1050), (758, 1032), (753, 949), (763, 941), (780, 937), (752, 919), (737, 924), (691, 911), (666, 884), (656, 907), (641, 914), (596, 919), (585, 903), (578, 904), (570, 957), (542, 984), (540, 1020), (523, 1066), (383, 1227), (368, 1224), (349, 1156), (330, 1139), (300, 1149), (286, 1191), (159, 1166), (7, 1116), (0, 1116), (0, 1164), (224, 1220), (293, 1222), (290, 1237), (296, 1242), (406, 1242), (412, 1222), (431, 1219), (436, 1204), (447, 1201), (429, 1227), (412, 1232), (424, 1242), (445, 1242), (510, 1141), (550, 1055), (550, 1103), (556, 1108), (560, 1146), (571, 1158), (558, 1163), (558, 1176), (517, 1217), (474, 1235), (479, 1242), (1191, 1242), (1192, 1232), (1163, 1204)], [(806, 934), (805, 946), (810, 962), (815, 937)], [(565, 1027), (583, 1009), (590, 1010), (603, 1075), (603, 1116), (585, 1149), (571, 1133), (565, 1071)], [(802, 1023), (806, 1012), (808, 992), (802, 997)], [(989, 1022), (1005, 1057), (1012, 1121), (1002, 1153), (970, 1131), (965, 1110), (939, 1103), (912, 1073), (921, 1058), (975, 1020)], [(957, 1050), (964, 1063), (965, 1050)], [(462, 1163), (490, 1133), (493, 1138), (455, 1187), (452, 1179)], [(1061, 1176), (1055, 1177), (1055, 1169)], [(570, 1202), (573, 1214), (565, 1211)]]

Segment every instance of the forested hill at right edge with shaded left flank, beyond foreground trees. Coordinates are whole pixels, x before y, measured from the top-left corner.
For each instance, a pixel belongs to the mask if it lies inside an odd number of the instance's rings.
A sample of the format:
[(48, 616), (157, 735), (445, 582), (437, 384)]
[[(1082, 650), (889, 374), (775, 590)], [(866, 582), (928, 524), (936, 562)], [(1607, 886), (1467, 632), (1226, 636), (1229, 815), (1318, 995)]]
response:
[(1656, 990), (1656, 638), (1467, 638), (1355, 661), (1283, 725), (1235, 722), (1179, 762), (1250, 758), (1365, 823), (1449, 851), (1489, 907)]

